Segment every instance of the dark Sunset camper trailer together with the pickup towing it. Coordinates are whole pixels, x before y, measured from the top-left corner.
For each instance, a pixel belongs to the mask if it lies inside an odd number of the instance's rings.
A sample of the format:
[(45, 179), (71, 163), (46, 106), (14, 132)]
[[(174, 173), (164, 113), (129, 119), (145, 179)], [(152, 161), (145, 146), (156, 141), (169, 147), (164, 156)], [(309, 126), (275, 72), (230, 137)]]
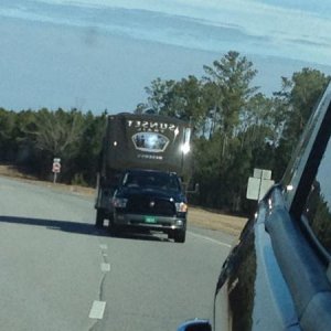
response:
[[(189, 124), (177, 118), (128, 113), (108, 116), (99, 160), (96, 225), (102, 226), (104, 218), (109, 218), (113, 231), (148, 227), (183, 242), (186, 197), (181, 181), (190, 173), (190, 138)], [(177, 190), (169, 185), (167, 190), (148, 186), (142, 180), (139, 188), (126, 186), (129, 174), (141, 178), (147, 171), (152, 171), (149, 174), (156, 177), (154, 182), (161, 178), (164, 181), (168, 175), (170, 183), (175, 177)], [(119, 206), (119, 200), (128, 201), (127, 206)], [(134, 209), (137, 201), (146, 209)]]

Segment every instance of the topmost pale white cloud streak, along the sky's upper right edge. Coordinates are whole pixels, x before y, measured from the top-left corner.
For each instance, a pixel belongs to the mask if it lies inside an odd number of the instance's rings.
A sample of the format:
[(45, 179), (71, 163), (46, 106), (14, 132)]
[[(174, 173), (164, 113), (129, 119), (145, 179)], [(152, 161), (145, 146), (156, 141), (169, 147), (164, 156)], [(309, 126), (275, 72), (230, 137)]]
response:
[(305, 10), (276, 7), (254, 0), (44, 0), (44, 2), (160, 11), (171, 15), (201, 19), (213, 24), (239, 25), (253, 34), (288, 35), (295, 39), (302, 36), (329, 39), (331, 28), (330, 19)]

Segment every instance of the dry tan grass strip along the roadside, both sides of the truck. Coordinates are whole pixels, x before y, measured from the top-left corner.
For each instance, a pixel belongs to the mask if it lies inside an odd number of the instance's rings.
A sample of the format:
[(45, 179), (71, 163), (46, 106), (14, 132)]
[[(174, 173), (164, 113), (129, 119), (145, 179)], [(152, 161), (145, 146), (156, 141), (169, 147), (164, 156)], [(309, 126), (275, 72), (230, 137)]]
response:
[[(89, 188), (82, 188), (76, 185), (64, 185), (64, 184), (53, 184), (52, 182), (35, 181), (31, 178), (25, 178), (22, 173), (17, 172), (14, 169), (8, 166), (0, 166), (0, 175), (11, 177), (20, 181), (32, 182), (38, 185), (46, 185), (55, 190), (70, 191), (72, 193), (94, 196), (95, 190)], [(222, 231), (227, 234), (237, 236), (242, 228), (244, 227), (247, 218), (236, 217), (231, 215), (221, 214), (217, 212), (206, 211), (204, 209), (189, 206), (189, 223), (191, 225)]]

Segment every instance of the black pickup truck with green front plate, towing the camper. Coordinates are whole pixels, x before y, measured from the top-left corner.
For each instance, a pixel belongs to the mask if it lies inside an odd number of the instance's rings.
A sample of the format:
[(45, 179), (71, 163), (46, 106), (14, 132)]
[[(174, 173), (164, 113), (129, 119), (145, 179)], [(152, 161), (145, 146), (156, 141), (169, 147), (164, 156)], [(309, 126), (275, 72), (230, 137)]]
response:
[(146, 169), (125, 171), (113, 205), (113, 231), (157, 231), (167, 233), (174, 242), (185, 242), (188, 202), (175, 173)]

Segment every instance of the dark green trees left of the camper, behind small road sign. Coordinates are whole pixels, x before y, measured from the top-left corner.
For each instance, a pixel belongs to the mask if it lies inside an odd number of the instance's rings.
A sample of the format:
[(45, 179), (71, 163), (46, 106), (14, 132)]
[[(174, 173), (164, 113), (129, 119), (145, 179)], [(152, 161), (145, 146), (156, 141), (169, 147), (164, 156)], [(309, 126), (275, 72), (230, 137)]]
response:
[(0, 162), (49, 179), (53, 158), (61, 158), (62, 182), (94, 185), (105, 117), (76, 109), (0, 109)]

